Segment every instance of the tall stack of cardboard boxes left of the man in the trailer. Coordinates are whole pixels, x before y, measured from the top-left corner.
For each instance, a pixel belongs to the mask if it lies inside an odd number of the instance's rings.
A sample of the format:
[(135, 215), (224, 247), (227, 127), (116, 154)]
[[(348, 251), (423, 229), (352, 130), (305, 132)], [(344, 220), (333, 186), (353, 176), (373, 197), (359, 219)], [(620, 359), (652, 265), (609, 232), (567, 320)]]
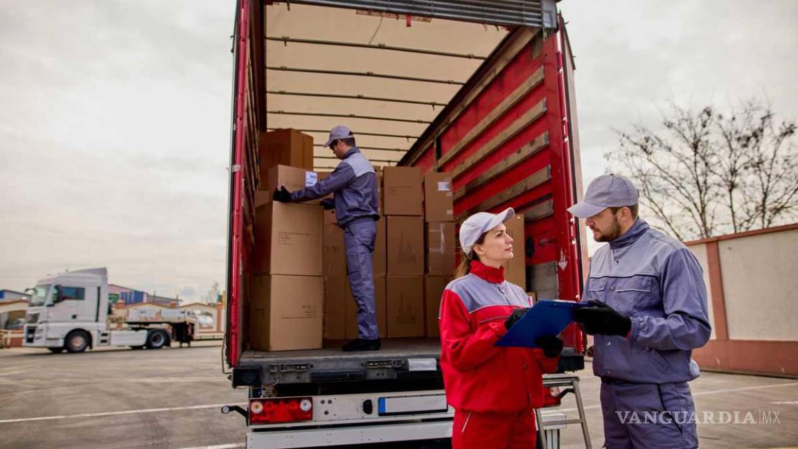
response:
[[(255, 246), (248, 282), (249, 346), (262, 351), (321, 348), (322, 208), (318, 201), (271, 201), (279, 185), (295, 190), (315, 184), (313, 140), (293, 129), (281, 129), (263, 133), (261, 143), (261, 190), (255, 195)], [(274, 165), (275, 161), (299, 166)]]

